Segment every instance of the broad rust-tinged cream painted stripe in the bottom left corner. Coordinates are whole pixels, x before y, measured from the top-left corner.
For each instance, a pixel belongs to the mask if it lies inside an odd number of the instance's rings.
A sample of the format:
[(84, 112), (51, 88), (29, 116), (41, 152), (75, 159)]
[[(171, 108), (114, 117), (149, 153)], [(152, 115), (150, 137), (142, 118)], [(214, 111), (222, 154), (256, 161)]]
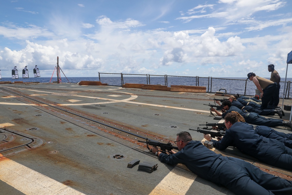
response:
[(85, 195), (0, 154), (0, 180), (27, 195)]

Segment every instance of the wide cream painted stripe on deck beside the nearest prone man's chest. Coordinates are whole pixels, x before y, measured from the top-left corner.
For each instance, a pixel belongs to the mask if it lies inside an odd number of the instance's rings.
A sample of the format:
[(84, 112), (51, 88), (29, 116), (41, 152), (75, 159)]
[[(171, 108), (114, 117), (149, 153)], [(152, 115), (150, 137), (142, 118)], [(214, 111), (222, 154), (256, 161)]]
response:
[(196, 177), (192, 172), (175, 167), (149, 195), (185, 195)]

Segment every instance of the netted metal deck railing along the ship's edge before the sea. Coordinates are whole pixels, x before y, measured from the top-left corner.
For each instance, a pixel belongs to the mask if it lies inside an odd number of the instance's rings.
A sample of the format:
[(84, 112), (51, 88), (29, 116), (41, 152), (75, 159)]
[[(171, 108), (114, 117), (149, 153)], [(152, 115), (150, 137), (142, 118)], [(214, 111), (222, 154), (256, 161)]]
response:
[[(246, 79), (227, 79), (215, 77), (188, 77), (172, 75), (150, 75), (150, 74), (123, 74), (123, 73), (98, 73), (99, 81), (112, 86), (122, 86), (125, 83), (136, 84), (160, 84), (170, 87), (171, 85), (188, 85), (206, 87), (206, 92), (215, 93), (217, 91), (227, 92), (227, 94), (240, 94), (254, 96), (256, 86), (252, 81)], [(280, 82), (280, 98), (292, 98), (291, 81)]]

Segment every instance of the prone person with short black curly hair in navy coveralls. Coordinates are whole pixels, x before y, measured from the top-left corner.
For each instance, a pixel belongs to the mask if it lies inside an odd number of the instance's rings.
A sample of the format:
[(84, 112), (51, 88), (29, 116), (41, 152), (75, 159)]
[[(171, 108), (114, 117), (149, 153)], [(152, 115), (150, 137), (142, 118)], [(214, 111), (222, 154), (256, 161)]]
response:
[(231, 102), (229, 100), (223, 101), (222, 106), (224, 109), (223, 111), (225, 111), (222, 114), (216, 111), (214, 108), (211, 108), (211, 111), (214, 111), (218, 116), (222, 116), (223, 118), (225, 117), (227, 113), (230, 113), (231, 111), (236, 111), (244, 118), (244, 120), (247, 123), (251, 123), (254, 125), (264, 125), (267, 127), (278, 127), (278, 126), (285, 125), (292, 128), (291, 121), (284, 121), (282, 119), (276, 119), (276, 118), (265, 118), (258, 115), (257, 113), (253, 113), (253, 112), (249, 113), (245, 110), (240, 110), (239, 108), (235, 106), (231, 106)]

